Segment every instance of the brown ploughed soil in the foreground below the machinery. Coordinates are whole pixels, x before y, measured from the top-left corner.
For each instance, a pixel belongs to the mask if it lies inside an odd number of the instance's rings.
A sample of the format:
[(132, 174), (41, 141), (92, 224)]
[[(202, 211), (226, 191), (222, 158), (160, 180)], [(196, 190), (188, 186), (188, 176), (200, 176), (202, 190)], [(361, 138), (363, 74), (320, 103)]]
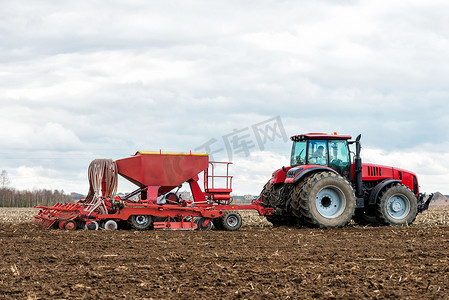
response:
[(449, 227), (62, 231), (0, 223), (0, 298), (447, 298)]

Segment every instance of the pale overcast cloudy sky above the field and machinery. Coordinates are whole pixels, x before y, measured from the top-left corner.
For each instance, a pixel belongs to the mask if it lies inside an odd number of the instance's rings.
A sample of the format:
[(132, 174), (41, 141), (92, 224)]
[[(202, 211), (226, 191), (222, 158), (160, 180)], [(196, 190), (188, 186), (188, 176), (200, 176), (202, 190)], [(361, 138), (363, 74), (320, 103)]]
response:
[(215, 141), (226, 160), (235, 133), (235, 192), (258, 194), (282, 130), (361, 133), (365, 162), (449, 194), (448, 82), (447, 1), (3, 1), (0, 169), (85, 194), (95, 158)]

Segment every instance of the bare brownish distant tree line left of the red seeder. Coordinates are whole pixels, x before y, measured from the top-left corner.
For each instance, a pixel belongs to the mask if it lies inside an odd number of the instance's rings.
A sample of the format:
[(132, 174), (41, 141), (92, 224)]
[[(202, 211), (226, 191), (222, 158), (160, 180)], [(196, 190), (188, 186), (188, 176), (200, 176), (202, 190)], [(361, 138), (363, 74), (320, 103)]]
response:
[(73, 198), (58, 190), (18, 191), (0, 188), (0, 207), (53, 206), (58, 202), (74, 202)]

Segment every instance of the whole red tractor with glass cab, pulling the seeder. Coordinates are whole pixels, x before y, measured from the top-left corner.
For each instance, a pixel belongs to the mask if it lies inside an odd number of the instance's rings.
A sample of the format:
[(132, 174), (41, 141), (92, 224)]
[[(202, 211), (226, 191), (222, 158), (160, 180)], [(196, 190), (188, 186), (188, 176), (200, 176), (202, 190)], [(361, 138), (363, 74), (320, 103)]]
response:
[(261, 193), (263, 206), (276, 210), (267, 220), (324, 228), (341, 227), (351, 219), (361, 225), (411, 224), (428, 208), (432, 195), (424, 203), (413, 172), (362, 164), (360, 138), (292, 136), (290, 166), (273, 172)]

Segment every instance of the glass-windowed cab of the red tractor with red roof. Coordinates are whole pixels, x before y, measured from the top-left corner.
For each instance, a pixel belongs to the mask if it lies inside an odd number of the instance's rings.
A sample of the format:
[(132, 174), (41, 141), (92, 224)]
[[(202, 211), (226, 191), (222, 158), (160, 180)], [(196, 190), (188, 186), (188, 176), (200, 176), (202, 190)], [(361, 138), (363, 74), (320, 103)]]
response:
[(351, 159), (347, 135), (308, 133), (291, 137), (293, 141), (290, 164), (321, 165), (334, 169), (350, 179)]

